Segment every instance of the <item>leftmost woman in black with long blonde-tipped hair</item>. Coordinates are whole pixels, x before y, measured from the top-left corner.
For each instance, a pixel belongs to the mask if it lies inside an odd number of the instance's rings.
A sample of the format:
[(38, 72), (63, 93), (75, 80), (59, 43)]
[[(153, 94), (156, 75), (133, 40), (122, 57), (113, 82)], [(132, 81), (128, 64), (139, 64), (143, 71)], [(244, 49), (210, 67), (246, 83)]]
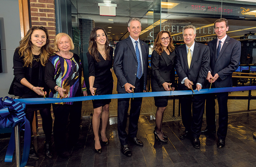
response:
[[(44, 27), (30, 28), (26, 36), (20, 41), (20, 46), (14, 52), (14, 79), (9, 94), (21, 98), (42, 98), (49, 93), (49, 88), (44, 82), (44, 68), (52, 53), (47, 29)], [(53, 124), (51, 104), (26, 105), (25, 113), (30, 121), (31, 130), (34, 111), (37, 110), (40, 111), (45, 134), (45, 157), (52, 158), (50, 142)], [(39, 159), (34, 149), (33, 139), (31, 139), (29, 159)]]

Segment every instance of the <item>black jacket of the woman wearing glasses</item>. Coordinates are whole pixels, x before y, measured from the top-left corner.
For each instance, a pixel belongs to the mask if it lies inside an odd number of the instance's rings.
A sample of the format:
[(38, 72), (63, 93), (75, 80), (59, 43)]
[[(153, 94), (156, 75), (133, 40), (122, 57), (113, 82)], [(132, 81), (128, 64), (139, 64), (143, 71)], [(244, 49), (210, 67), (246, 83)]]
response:
[(164, 82), (171, 82), (173, 87), (175, 81), (174, 73), (175, 52), (167, 55), (165, 51), (159, 55), (157, 51), (153, 51), (151, 55), (151, 67), (153, 78), (159, 86)]

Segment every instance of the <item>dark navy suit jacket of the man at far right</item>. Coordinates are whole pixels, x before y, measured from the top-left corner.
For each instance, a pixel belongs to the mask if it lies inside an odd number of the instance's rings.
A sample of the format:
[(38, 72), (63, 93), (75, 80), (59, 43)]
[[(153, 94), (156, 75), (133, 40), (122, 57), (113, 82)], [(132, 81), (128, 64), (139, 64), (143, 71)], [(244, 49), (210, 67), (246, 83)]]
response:
[(219, 75), (219, 78), (214, 82), (216, 87), (231, 87), (232, 73), (239, 66), (241, 42), (227, 36), (220, 55), (216, 60), (217, 40), (216, 38), (208, 43), (211, 57), (209, 70), (212, 76), (216, 73)]

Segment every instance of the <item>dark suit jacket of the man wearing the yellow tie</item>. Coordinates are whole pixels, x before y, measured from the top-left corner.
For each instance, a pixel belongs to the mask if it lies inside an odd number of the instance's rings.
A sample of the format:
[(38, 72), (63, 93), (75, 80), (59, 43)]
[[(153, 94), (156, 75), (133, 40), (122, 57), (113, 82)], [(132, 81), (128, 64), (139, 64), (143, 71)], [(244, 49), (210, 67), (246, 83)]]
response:
[(196, 83), (201, 83), (204, 85), (209, 71), (209, 47), (207, 45), (195, 42), (190, 69), (188, 65), (186, 45), (181, 45), (176, 48), (175, 54), (175, 69), (179, 76), (180, 90), (188, 90), (188, 87), (185, 86), (185, 84), (181, 84), (181, 81), (186, 77), (193, 82), (193, 89), (196, 88)]

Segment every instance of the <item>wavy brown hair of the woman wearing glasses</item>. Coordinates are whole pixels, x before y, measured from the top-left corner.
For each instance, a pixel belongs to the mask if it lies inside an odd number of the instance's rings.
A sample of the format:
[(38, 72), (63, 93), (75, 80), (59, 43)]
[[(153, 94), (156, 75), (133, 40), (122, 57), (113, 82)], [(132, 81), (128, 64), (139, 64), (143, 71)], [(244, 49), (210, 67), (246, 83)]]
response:
[(167, 49), (168, 49), (169, 51), (171, 51), (171, 52), (173, 52), (174, 49), (175, 49), (175, 47), (174, 47), (174, 45), (173, 45), (173, 43), (172, 43), (173, 41), (172, 41), (172, 37), (171, 37), (171, 32), (170, 32), (170, 31), (164, 31), (164, 30), (162, 30), (162, 31), (160, 31), (160, 32), (158, 33), (157, 39), (156, 39), (156, 41), (154, 42), (154, 49), (157, 51), (157, 53), (158, 53), (159, 55), (161, 55), (161, 53), (163, 52), (163, 47), (162, 47), (162, 44), (161, 44), (161, 36), (162, 36), (163, 33), (168, 33), (168, 35), (169, 35), (169, 37), (170, 37), (170, 43), (169, 43), (169, 45), (167, 46)]

